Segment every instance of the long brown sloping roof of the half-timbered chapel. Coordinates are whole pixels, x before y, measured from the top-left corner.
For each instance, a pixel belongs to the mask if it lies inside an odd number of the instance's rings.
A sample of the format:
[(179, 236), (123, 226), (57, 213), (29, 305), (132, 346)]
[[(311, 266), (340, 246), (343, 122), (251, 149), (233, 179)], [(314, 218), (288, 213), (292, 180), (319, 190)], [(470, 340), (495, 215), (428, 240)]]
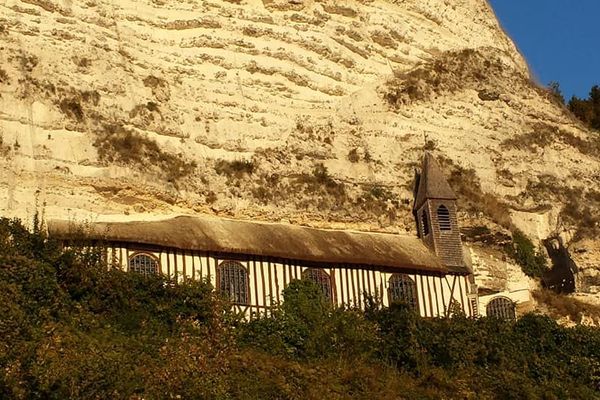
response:
[(133, 246), (154, 245), (311, 263), (448, 272), (421, 240), (392, 234), (190, 216), (162, 221), (98, 222), (84, 230), (68, 221), (55, 220), (49, 221), (48, 231), (51, 237), (62, 240), (81, 239), (83, 235), (89, 240)]

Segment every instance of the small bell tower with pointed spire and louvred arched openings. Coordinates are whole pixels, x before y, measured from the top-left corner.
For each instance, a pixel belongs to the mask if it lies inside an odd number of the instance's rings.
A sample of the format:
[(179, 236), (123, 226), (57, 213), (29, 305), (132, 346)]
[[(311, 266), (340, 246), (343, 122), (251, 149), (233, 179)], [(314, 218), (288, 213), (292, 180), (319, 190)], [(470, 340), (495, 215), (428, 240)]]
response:
[(456, 194), (430, 153), (425, 153), (415, 199), (419, 237), (448, 267), (463, 267)]

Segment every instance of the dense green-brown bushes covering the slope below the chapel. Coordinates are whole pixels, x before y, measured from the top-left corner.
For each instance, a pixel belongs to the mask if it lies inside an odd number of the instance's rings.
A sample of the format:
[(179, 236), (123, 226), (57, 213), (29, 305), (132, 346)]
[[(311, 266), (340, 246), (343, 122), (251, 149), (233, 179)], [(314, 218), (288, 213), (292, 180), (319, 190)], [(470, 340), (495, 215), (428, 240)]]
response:
[(110, 269), (0, 220), (0, 397), (600, 398), (600, 332), (333, 308), (295, 281), (245, 322), (207, 282)]

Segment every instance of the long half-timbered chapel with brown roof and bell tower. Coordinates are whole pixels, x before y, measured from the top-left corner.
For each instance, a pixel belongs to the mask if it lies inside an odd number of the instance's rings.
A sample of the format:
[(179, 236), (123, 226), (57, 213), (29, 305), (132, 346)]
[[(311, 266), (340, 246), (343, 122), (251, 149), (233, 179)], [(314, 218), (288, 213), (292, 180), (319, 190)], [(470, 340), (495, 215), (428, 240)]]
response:
[[(418, 236), (186, 215), (96, 222), (85, 240), (101, 242), (115, 268), (175, 281), (207, 279), (250, 318), (279, 304), (294, 279), (314, 281), (337, 306), (364, 307), (368, 295), (384, 306), (404, 302), (423, 317), (447, 317), (457, 309), (478, 316), (457, 197), (429, 153), (419, 176)], [(81, 240), (81, 229), (71, 221), (51, 220), (48, 231), (66, 245)], [(494, 301), (487, 314), (514, 318), (510, 300)]]

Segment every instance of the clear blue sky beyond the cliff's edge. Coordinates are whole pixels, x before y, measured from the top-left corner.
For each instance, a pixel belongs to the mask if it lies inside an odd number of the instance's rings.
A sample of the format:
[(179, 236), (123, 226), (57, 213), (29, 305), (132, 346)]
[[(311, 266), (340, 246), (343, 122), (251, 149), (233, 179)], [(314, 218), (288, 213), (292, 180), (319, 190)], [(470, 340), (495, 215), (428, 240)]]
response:
[(504, 29), (543, 85), (568, 100), (600, 85), (600, 0), (490, 0)]

